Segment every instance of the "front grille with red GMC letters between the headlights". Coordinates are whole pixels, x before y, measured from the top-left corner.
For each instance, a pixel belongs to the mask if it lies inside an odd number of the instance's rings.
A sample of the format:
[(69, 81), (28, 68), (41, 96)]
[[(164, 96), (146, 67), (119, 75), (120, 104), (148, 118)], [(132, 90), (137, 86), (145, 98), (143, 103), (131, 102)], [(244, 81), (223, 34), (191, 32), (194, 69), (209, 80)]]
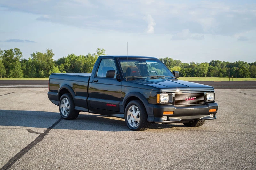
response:
[(203, 105), (204, 93), (175, 93), (174, 104), (176, 106)]

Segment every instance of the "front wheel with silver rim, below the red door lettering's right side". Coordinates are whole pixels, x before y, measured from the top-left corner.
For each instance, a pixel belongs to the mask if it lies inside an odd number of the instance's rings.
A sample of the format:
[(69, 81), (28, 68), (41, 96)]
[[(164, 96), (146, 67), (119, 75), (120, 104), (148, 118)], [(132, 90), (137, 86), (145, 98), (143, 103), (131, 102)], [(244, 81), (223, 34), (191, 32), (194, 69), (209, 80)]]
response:
[(148, 122), (148, 114), (140, 100), (132, 100), (128, 103), (124, 112), (127, 127), (131, 130), (147, 130), (151, 124)]

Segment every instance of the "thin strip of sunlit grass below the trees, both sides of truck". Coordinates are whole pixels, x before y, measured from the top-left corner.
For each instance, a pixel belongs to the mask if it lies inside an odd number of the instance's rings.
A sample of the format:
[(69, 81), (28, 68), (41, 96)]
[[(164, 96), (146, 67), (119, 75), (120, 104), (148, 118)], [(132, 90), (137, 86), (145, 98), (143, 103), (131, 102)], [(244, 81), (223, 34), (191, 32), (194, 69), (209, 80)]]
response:
[[(0, 80), (48, 80), (49, 78), (0, 78)], [(225, 77), (180, 77), (179, 80), (185, 81), (229, 81)], [(232, 81), (232, 78), (230, 78)], [(256, 78), (233, 78), (233, 81), (256, 81)]]

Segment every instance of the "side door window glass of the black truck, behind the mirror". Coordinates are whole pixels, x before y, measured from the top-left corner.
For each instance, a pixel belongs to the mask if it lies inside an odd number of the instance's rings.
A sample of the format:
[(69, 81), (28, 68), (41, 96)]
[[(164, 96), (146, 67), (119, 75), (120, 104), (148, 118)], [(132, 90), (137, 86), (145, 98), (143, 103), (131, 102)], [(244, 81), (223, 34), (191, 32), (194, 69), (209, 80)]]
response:
[[(100, 61), (100, 66), (97, 70), (97, 77), (106, 77), (108, 70), (115, 70), (116, 72), (116, 65), (113, 59), (102, 59)], [(116, 78), (116, 75), (115, 77)]]

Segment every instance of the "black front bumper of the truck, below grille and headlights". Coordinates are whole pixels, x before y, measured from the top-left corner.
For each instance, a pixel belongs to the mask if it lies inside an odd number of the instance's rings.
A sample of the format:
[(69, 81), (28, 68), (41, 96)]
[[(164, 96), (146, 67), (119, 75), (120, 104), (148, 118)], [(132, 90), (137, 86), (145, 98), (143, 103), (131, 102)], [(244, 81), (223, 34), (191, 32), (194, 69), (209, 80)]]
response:
[[(216, 112), (209, 112), (210, 109), (216, 109)], [(164, 115), (163, 112), (173, 111), (172, 115)], [(210, 120), (216, 119), (216, 113), (218, 111), (217, 103), (206, 103), (199, 106), (173, 106), (173, 105), (154, 105), (153, 114), (154, 118), (150, 122), (156, 123), (178, 123), (189, 120)], [(210, 117), (213, 114), (213, 117)], [(163, 120), (163, 116), (167, 116), (167, 120)]]

